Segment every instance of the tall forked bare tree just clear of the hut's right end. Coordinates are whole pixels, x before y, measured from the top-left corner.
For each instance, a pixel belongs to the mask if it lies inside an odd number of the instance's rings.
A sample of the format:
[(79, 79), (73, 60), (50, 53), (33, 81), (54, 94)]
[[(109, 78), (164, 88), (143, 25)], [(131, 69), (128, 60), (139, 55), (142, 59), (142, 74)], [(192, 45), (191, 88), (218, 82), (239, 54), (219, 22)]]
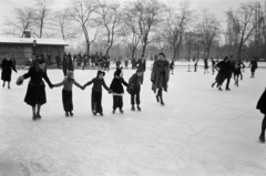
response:
[[(101, 23), (95, 17), (98, 3), (94, 0), (73, 0), (71, 8), (71, 17), (76, 21), (84, 34), (86, 42), (86, 53), (90, 53), (91, 44), (96, 40), (101, 29)], [(93, 33), (93, 38), (90, 34)]]

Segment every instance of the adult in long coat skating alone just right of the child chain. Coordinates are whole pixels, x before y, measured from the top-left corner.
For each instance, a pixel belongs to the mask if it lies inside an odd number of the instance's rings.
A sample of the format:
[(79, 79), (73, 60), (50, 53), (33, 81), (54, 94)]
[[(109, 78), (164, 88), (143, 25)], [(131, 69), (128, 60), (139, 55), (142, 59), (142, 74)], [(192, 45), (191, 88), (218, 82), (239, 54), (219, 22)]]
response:
[(160, 53), (158, 60), (154, 62), (151, 81), (152, 81), (152, 90), (156, 93), (156, 101), (164, 105), (163, 102), (163, 89), (167, 92), (167, 83), (170, 79), (170, 63), (165, 60), (165, 54)]

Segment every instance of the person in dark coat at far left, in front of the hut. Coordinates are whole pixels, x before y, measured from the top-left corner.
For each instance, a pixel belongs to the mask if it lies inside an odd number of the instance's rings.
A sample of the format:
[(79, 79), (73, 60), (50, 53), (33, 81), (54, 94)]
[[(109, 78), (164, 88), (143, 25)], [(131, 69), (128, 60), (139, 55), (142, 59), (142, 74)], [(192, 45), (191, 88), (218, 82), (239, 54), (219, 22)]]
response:
[(4, 87), (6, 82), (8, 82), (8, 89), (10, 89), (12, 70), (17, 73), (17, 69), (9, 54), (7, 54), (6, 59), (2, 60), (2, 63), (0, 66), (2, 68), (2, 75), (1, 75), (1, 79), (3, 81), (2, 86)]

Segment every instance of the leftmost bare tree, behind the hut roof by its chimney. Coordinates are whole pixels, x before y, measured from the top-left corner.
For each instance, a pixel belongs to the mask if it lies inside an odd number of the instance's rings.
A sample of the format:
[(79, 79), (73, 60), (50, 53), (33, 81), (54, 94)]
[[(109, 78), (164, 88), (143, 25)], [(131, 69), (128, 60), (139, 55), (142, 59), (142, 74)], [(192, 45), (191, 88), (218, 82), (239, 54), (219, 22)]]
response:
[(22, 38), (24, 31), (30, 30), (32, 25), (33, 11), (31, 8), (16, 8), (14, 13), (13, 20), (6, 17), (4, 25), (8, 29), (4, 29), (2, 32), (7, 35)]

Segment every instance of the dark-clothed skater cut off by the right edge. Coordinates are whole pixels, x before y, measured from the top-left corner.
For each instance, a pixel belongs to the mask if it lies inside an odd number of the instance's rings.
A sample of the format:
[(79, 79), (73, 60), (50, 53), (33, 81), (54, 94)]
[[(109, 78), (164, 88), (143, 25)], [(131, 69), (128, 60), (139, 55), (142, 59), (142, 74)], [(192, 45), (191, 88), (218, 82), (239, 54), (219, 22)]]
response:
[(260, 111), (262, 114), (264, 114), (264, 120), (262, 123), (262, 133), (259, 135), (259, 141), (262, 143), (265, 143), (265, 130), (266, 130), (266, 89), (263, 93), (263, 95), (260, 96), (260, 99), (258, 100), (257, 103), (257, 110)]

